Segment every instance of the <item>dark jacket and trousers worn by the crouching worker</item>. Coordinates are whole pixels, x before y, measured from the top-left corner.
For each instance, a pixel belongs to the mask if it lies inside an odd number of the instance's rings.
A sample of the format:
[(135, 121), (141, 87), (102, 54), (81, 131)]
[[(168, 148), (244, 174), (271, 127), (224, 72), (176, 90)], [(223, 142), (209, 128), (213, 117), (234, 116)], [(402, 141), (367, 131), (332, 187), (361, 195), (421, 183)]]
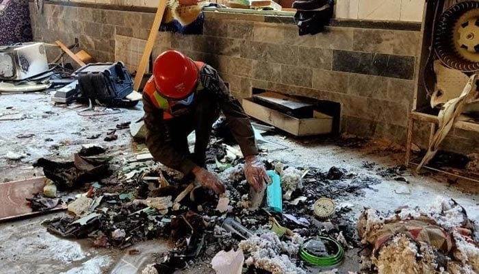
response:
[[(182, 116), (165, 120), (163, 110), (153, 105), (143, 94), (144, 123), (148, 132), (146, 145), (151, 154), (162, 164), (189, 174), (194, 166), (205, 165), (205, 153), (211, 135), (211, 127), (218, 119), (220, 110), (226, 116), (231, 133), (241, 147), (244, 156), (258, 153), (255, 134), (248, 115), (239, 104), (218, 72), (209, 65), (200, 69), (199, 81), (204, 89), (196, 94), (191, 111)], [(196, 131), (194, 153), (190, 154), (187, 135)]]

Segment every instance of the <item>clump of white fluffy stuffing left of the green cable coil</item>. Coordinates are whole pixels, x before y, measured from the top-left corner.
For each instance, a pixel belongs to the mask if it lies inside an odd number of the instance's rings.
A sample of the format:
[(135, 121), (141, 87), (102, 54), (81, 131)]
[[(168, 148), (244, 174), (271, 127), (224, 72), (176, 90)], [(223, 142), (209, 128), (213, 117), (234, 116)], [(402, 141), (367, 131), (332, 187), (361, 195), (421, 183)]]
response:
[(238, 246), (249, 256), (245, 261), (248, 266), (254, 265), (273, 274), (306, 274), (292, 261), (303, 241), (298, 234), (291, 241), (284, 242), (274, 232), (266, 232), (242, 240)]

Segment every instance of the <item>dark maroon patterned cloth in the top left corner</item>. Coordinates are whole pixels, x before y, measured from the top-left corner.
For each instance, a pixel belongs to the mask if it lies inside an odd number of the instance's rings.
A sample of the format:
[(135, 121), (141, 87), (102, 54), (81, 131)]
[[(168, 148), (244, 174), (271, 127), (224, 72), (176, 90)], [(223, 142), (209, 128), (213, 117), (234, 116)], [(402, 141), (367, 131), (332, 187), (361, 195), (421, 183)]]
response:
[(0, 0), (0, 46), (31, 40), (28, 0)]

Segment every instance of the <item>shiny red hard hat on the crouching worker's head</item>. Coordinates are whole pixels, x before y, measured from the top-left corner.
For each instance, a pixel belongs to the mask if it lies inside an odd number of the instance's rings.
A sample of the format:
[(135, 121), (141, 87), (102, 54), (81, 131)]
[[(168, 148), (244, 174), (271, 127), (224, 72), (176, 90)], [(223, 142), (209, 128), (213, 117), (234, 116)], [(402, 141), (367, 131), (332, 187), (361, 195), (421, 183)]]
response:
[(181, 100), (190, 96), (198, 82), (198, 69), (193, 60), (179, 51), (161, 53), (153, 64), (157, 91), (167, 99)]

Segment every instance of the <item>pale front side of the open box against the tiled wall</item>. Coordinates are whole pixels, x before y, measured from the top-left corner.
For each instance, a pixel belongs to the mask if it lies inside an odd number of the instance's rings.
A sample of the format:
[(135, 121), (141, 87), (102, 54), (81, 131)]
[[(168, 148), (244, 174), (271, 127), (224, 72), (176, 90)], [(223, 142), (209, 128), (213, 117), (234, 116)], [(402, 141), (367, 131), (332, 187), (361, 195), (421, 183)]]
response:
[(297, 119), (264, 105), (255, 103), (253, 99), (243, 99), (243, 108), (246, 114), (263, 121), (285, 132), (296, 136), (309, 136), (331, 133), (333, 117), (314, 111), (311, 119)]

